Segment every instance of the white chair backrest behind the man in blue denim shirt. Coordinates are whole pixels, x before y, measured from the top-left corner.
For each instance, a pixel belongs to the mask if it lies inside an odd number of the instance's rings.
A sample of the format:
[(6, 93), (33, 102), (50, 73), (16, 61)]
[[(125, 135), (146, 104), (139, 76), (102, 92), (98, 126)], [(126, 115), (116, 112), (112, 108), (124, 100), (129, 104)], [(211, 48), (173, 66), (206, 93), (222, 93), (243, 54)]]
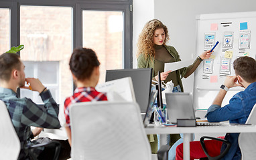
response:
[[(246, 124), (256, 125), (256, 104), (253, 106), (253, 109), (251, 109)], [(255, 159), (256, 133), (240, 133), (238, 141), (242, 159)]]

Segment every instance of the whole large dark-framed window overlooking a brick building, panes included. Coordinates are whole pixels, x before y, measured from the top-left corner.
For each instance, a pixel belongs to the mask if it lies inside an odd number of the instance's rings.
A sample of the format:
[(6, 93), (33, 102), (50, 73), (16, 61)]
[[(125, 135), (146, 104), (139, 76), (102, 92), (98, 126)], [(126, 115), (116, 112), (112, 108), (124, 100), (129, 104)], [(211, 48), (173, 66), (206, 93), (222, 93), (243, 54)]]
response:
[[(0, 54), (24, 45), (19, 54), (27, 77), (39, 78), (63, 104), (74, 91), (68, 66), (74, 48), (88, 47), (97, 53), (101, 81), (106, 69), (132, 67), (132, 4), (132, 0), (0, 0)], [(55, 75), (49, 72), (51, 67)], [(56, 81), (48, 82), (52, 76)], [(42, 103), (38, 93), (25, 89), (18, 93)]]

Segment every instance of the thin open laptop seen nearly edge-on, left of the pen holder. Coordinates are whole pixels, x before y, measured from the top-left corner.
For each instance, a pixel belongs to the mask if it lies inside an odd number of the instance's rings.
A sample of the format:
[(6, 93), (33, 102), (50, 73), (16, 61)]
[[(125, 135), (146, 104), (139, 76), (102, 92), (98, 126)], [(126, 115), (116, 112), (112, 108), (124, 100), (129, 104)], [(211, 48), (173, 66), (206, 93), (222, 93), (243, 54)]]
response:
[(153, 113), (153, 105), (155, 104), (155, 99), (157, 97), (157, 90), (151, 91), (150, 97), (149, 97), (149, 104), (147, 105), (147, 111), (145, 113), (145, 117), (143, 119), (144, 126), (147, 127), (149, 125), (151, 115)]

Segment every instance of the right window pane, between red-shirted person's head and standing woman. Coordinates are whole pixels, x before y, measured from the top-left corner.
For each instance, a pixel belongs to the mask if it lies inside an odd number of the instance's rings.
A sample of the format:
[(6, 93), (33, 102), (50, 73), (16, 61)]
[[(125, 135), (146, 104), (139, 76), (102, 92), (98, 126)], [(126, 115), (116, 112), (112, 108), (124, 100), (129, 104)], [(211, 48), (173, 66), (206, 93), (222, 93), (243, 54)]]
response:
[(122, 11), (82, 11), (82, 46), (98, 55), (99, 83), (107, 69), (123, 69), (123, 22)]

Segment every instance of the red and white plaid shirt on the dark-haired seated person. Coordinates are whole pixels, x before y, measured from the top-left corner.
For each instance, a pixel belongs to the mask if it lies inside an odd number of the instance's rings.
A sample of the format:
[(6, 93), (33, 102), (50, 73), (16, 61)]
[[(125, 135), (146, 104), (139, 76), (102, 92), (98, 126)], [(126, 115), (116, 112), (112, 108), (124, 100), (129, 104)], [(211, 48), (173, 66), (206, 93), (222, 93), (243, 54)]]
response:
[(74, 90), (74, 95), (66, 98), (64, 102), (64, 115), (66, 118), (66, 125), (70, 127), (69, 107), (72, 103), (86, 102), (86, 101), (107, 101), (105, 93), (96, 91), (93, 87), (80, 87)]

